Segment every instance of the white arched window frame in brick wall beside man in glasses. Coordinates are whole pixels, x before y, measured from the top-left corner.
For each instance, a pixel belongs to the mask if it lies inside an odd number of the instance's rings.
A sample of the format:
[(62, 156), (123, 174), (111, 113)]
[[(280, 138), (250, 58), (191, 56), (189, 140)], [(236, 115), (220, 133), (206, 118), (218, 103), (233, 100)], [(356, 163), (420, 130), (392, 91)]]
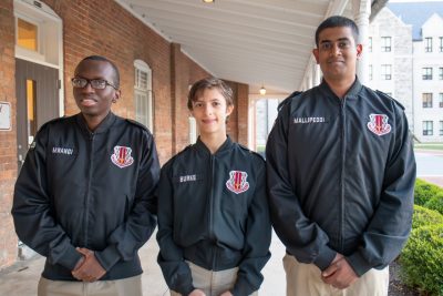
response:
[[(146, 85), (140, 85), (137, 81), (137, 71), (146, 73)], [(137, 95), (146, 98), (147, 102), (141, 106)], [(144, 124), (151, 132), (154, 132), (154, 96), (152, 90), (152, 70), (151, 67), (142, 60), (134, 61), (134, 110), (135, 120)], [(144, 109), (144, 110), (142, 110)], [(140, 115), (142, 114), (142, 115)]]

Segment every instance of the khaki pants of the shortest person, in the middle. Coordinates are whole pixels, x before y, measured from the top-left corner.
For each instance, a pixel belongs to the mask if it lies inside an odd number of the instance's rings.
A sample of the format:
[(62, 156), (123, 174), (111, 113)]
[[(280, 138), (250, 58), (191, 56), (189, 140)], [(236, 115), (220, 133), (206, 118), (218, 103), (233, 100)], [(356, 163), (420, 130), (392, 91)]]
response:
[[(189, 265), (190, 273), (193, 276), (193, 285), (195, 288), (203, 290), (206, 296), (219, 296), (224, 292), (229, 290), (234, 287), (237, 279), (238, 267), (231, 269), (225, 269), (219, 272), (213, 272), (199, 267), (190, 262), (186, 262)], [(181, 296), (182, 294), (171, 290), (171, 296)], [(257, 296), (257, 292), (250, 294), (250, 296)]]

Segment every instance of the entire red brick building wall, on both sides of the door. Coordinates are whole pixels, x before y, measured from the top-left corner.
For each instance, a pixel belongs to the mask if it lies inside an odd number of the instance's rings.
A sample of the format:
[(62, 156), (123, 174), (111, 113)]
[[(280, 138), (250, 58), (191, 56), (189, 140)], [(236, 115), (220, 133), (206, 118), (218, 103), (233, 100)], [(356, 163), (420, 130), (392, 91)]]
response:
[[(124, 118), (134, 118), (134, 60), (146, 62), (153, 74), (154, 136), (161, 162), (188, 144), (186, 106), (188, 85), (208, 73), (152, 29), (112, 0), (60, 1), (43, 0), (63, 20), (64, 108), (65, 114), (78, 113), (70, 80), (76, 64), (86, 55), (109, 58), (121, 72), (122, 99), (113, 111)], [(0, 132), (0, 269), (17, 258), (17, 236), (10, 210), (13, 184), (17, 178), (17, 133), (14, 89), (14, 19), (13, 1), (0, 1), (0, 101), (11, 102), (12, 131)], [(99, 13), (100, 11), (100, 13)], [(244, 142), (243, 127), (237, 118), (247, 104), (247, 85), (230, 82), (239, 94), (236, 112), (229, 121), (233, 139)], [(246, 93), (245, 93), (246, 90)], [(245, 95), (246, 94), (246, 95)], [(246, 101), (245, 101), (246, 100)]]

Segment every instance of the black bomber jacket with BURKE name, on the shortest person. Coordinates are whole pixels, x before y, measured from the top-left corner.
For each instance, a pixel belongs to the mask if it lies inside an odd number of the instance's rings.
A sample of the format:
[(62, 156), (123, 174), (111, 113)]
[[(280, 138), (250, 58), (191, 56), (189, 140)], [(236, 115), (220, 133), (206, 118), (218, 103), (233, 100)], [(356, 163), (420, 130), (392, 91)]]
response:
[(265, 161), (228, 137), (215, 154), (198, 140), (162, 167), (158, 263), (171, 289), (193, 289), (189, 261), (208, 271), (239, 268), (235, 296), (257, 290), (270, 257)]

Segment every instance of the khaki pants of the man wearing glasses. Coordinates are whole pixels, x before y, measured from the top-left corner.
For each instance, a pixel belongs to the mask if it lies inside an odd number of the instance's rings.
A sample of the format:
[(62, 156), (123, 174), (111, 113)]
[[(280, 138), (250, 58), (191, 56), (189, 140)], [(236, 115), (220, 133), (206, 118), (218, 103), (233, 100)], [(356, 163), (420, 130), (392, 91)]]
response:
[(94, 283), (50, 280), (40, 277), (38, 296), (143, 296), (142, 276)]

